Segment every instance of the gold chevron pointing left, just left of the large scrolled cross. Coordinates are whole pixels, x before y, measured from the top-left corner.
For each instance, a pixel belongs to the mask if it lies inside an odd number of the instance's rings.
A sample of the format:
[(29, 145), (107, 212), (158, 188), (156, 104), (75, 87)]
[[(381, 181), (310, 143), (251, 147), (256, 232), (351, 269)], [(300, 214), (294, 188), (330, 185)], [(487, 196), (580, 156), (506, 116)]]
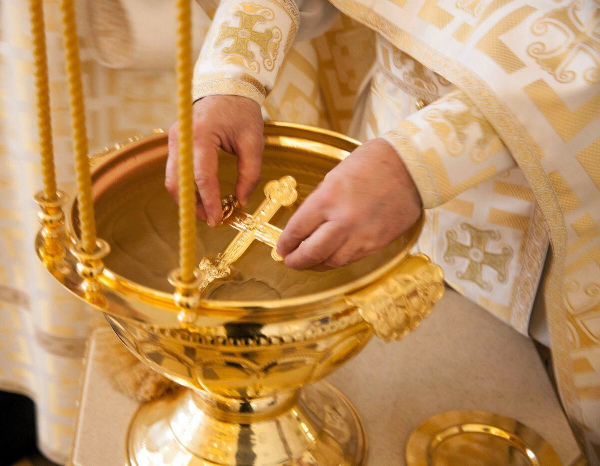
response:
[(490, 57), (499, 67), (502, 67), (506, 73), (511, 74), (521, 70), (525, 64), (515, 55), (512, 50), (506, 46), (500, 39), (502, 35), (511, 31), (520, 25), (527, 17), (532, 14), (535, 8), (525, 5), (518, 10), (500, 20), (484, 35), (477, 43), (477, 49)]

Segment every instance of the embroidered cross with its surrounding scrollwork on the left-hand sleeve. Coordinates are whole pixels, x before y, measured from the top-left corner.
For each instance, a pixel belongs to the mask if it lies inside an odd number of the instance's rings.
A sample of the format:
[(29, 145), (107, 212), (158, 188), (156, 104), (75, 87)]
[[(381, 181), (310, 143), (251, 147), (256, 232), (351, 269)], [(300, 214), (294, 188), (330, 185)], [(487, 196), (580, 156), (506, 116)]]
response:
[[(239, 18), (237, 28), (229, 25), (226, 21), (221, 25), (221, 32), (215, 41), (215, 47), (220, 46), (224, 41), (233, 39), (229, 47), (224, 47), (224, 55), (240, 55), (246, 63), (250, 63), (249, 68), (255, 73), (260, 72), (260, 65), (254, 61), (254, 52), (248, 47), (255, 44), (263, 58), (265, 68), (272, 71), (275, 68), (275, 59), (279, 52), (279, 43), (281, 41), (281, 30), (279, 28), (265, 29), (264, 32), (254, 30), (257, 23), (264, 24), (267, 20), (273, 20), (275, 13), (273, 10), (260, 7), (255, 4), (242, 4), (244, 11), (235, 11), (234, 16)], [(258, 12), (259, 14), (250, 14), (248, 12)]]

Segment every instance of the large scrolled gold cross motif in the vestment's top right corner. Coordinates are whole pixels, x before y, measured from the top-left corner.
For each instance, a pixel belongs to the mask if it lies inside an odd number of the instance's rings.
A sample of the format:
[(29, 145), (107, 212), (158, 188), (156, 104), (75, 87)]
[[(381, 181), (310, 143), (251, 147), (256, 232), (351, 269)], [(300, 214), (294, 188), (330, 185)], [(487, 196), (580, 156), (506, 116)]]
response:
[(580, 17), (582, 9), (583, 2), (575, 0), (566, 7), (545, 14), (532, 26), (533, 34), (539, 37), (557, 30), (563, 38), (559, 44), (548, 38), (548, 42), (536, 42), (527, 49), (542, 69), (560, 83), (571, 83), (577, 78), (571, 64), (581, 55), (592, 62), (589, 68), (581, 70), (583, 79), (592, 85), (600, 83), (600, 8), (587, 23)]

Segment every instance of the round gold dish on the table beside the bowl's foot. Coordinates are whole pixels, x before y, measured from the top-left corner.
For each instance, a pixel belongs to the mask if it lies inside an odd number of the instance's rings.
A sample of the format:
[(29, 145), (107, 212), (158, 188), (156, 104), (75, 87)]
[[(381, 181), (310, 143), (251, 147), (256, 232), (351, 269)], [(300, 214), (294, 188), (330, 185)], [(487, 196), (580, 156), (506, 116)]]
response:
[(422, 423), (406, 446), (407, 466), (560, 466), (533, 429), (485, 411), (450, 411)]

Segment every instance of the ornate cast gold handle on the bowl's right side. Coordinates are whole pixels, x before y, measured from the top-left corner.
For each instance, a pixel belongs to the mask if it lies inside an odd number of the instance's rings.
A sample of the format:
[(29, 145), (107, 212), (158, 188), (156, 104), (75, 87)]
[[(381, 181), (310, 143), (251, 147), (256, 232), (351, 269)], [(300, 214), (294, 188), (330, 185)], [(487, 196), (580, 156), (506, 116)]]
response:
[(404, 338), (444, 294), (442, 269), (424, 254), (409, 255), (392, 276), (346, 297), (379, 338)]

